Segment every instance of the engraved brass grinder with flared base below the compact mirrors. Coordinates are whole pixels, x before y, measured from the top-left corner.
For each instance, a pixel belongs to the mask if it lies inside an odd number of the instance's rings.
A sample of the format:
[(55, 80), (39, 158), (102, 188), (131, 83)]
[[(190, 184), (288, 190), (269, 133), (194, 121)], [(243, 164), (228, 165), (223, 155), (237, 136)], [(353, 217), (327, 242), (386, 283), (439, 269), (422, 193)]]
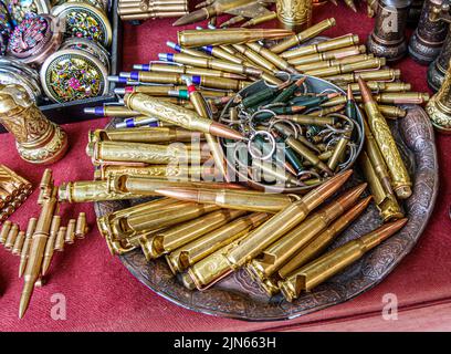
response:
[(0, 85), (0, 123), (14, 135), (19, 155), (28, 163), (52, 164), (67, 149), (64, 131), (43, 115), (22, 86)]

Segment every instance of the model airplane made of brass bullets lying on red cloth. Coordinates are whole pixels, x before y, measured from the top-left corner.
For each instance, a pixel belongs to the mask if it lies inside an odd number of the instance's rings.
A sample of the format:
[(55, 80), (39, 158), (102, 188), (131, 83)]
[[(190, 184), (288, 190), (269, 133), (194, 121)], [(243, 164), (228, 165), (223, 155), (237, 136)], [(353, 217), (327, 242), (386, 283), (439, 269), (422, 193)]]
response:
[(81, 212), (77, 219), (69, 220), (67, 226), (61, 226), (57, 215), (57, 187), (54, 186), (52, 171), (46, 169), (40, 184), (38, 204), (41, 206), (39, 218), (31, 218), (27, 231), (21, 231), (19, 225), (6, 221), (0, 230), (0, 243), (20, 257), (19, 278), (24, 284), (20, 300), (19, 317), (22, 317), (29, 306), (31, 295), (36, 284), (43, 284), (48, 274), (54, 251), (62, 252), (65, 243), (74, 243), (88, 232), (86, 215)]

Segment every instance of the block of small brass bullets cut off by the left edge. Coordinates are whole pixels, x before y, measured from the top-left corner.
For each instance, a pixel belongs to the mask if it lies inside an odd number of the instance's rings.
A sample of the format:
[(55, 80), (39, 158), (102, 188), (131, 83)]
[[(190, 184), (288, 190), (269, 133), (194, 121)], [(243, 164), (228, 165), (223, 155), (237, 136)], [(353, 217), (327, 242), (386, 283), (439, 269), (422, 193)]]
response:
[(0, 222), (7, 220), (32, 191), (30, 181), (0, 165)]

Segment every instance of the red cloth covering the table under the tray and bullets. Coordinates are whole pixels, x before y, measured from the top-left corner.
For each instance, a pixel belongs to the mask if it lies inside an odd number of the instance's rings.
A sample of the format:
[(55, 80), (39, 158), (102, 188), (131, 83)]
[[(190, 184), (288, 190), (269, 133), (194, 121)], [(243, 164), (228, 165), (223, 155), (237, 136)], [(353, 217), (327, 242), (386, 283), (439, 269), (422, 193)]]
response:
[[(337, 25), (327, 35), (357, 33), (361, 41), (371, 31), (374, 20), (364, 9), (355, 14), (344, 6), (316, 9), (314, 21), (335, 17)], [(158, 52), (168, 51), (167, 40), (176, 40), (177, 28), (169, 20), (148, 21), (139, 27), (125, 25), (124, 70), (133, 63), (156, 60)], [(192, 28), (190, 25), (189, 28)], [(426, 67), (402, 60), (403, 80), (413, 90), (428, 91)], [(65, 125), (71, 149), (54, 164), (56, 183), (92, 178), (93, 167), (84, 153), (87, 131), (103, 127), (106, 118)], [(1, 135), (0, 162), (27, 176), (35, 186), (44, 169), (20, 160), (14, 142)], [(67, 246), (52, 262), (48, 284), (35, 290), (23, 320), (18, 320), (22, 280), (17, 278), (19, 259), (0, 247), (0, 331), (358, 331), (358, 330), (451, 330), (451, 233), (448, 212), (451, 204), (449, 136), (437, 135), (440, 171), (440, 194), (434, 215), (411, 254), (378, 287), (346, 303), (284, 322), (248, 323), (208, 316), (181, 309), (140, 284), (108, 253), (96, 228), (85, 240)], [(17, 211), (11, 220), (25, 228), (27, 220), (36, 216), (38, 192)], [(63, 205), (64, 219), (85, 211), (90, 225), (95, 225), (92, 205)], [(66, 320), (51, 317), (51, 296), (61, 293), (66, 299)], [(381, 316), (382, 296), (395, 293), (399, 301), (397, 321)]]

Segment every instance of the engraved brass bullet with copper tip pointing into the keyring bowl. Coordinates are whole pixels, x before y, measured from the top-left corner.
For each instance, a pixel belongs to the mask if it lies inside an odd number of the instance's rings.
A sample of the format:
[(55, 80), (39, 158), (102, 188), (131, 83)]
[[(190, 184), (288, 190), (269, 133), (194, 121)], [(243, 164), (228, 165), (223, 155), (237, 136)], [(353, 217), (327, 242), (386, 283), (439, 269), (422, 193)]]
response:
[(160, 102), (158, 97), (150, 97), (141, 93), (127, 94), (125, 104), (145, 115), (156, 116), (160, 121), (181, 126), (186, 129), (210, 133), (231, 139), (241, 139), (242, 135), (226, 125), (202, 118), (192, 111), (171, 103)]

